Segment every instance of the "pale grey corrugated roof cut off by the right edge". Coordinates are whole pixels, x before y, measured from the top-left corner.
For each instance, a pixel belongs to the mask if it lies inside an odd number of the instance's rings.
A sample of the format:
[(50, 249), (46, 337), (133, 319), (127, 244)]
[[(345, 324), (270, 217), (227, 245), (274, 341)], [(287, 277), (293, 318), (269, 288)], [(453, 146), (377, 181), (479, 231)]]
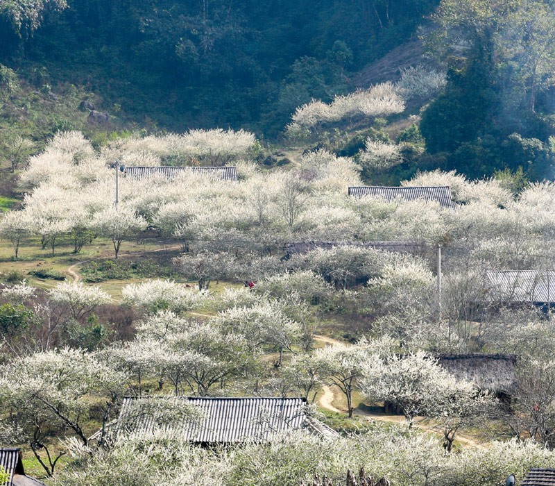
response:
[(555, 301), (555, 271), (486, 271), (488, 299), (495, 302), (547, 303)]

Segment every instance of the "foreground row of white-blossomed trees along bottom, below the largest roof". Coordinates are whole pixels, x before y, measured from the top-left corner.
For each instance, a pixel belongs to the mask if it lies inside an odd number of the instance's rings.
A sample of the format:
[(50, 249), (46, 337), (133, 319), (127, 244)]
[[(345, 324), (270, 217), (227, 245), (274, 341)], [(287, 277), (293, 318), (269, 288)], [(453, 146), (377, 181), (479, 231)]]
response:
[(71, 444), (78, 466), (61, 471), (66, 486), (192, 485), (296, 486), (314, 476), (343, 484), (347, 468), (364, 465), (373, 478), (393, 485), (473, 486), (504, 482), (509, 474), (524, 478), (530, 467), (553, 467), (555, 456), (537, 444), (496, 442), (487, 449), (445, 455), (432, 436), (403, 427), (374, 428), (352, 437), (322, 440), (295, 433), (272, 444), (244, 444), (228, 449), (200, 449), (167, 433), (121, 437), (110, 449)]

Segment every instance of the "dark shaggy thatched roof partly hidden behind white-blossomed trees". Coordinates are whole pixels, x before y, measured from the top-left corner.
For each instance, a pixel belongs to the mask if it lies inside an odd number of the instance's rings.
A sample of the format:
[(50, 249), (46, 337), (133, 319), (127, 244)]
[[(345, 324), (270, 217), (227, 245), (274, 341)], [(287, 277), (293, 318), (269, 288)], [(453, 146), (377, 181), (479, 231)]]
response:
[(516, 385), (516, 356), (513, 354), (441, 354), (438, 364), (460, 380), (476, 383), (496, 394), (511, 394)]

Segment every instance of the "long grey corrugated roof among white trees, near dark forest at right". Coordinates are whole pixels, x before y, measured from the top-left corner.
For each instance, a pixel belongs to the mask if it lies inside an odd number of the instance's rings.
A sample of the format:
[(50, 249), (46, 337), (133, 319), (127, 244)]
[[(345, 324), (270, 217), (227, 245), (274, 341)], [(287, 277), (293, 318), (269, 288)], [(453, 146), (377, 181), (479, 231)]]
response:
[(379, 185), (349, 187), (349, 196), (381, 197), (386, 201), (436, 201), (443, 208), (454, 208), (449, 186), (386, 187)]

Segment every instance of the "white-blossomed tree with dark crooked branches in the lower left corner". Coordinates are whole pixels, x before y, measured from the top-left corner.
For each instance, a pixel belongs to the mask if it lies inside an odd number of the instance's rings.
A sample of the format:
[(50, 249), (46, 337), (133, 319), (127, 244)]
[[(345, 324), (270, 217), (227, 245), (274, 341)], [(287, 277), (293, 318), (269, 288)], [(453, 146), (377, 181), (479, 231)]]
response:
[(74, 436), (87, 444), (85, 395), (117, 389), (121, 376), (83, 351), (61, 349), (18, 358), (0, 369), (3, 421), (21, 429), (35, 458), (52, 476), (66, 451), (52, 437)]

